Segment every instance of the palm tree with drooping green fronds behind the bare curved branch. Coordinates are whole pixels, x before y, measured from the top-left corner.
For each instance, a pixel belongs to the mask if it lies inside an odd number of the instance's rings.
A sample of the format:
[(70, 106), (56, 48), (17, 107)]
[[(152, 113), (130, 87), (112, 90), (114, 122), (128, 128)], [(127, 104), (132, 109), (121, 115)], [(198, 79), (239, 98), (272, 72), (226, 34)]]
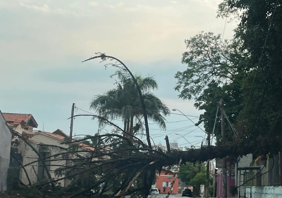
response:
[[(94, 109), (105, 119), (122, 119), (124, 131), (133, 134), (142, 126), (143, 116), (137, 87), (133, 80), (123, 75), (121, 71), (115, 72), (115, 75), (120, 80), (117, 87), (102, 95), (96, 95), (90, 102), (90, 109)], [(143, 78), (140, 75), (135, 75), (135, 78), (147, 107), (148, 119), (157, 122), (160, 128), (165, 129), (164, 116), (169, 115), (169, 109), (150, 92), (158, 88), (157, 82), (151, 76)], [(137, 121), (135, 126), (133, 126), (134, 119)], [(100, 121), (99, 124), (103, 125), (103, 121)]]

